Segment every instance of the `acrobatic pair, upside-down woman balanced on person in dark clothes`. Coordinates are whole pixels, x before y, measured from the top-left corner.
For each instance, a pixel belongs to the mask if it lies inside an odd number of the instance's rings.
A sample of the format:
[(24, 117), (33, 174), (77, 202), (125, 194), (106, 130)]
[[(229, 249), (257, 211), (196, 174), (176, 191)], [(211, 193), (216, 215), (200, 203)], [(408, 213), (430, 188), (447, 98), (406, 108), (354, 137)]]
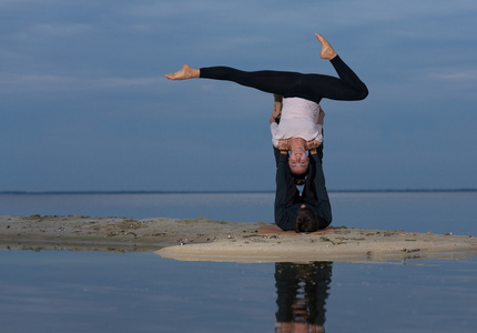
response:
[[(280, 123), (277, 111), (272, 113), (271, 129), (276, 153), (275, 223), (283, 230), (312, 232), (332, 222), (332, 211), (322, 168), (323, 122), (319, 124), (319, 102), (323, 98), (357, 101), (368, 90), (353, 70), (336, 54), (332, 46), (315, 33), (322, 44), (321, 58), (331, 61), (338, 78), (286, 71), (241, 71), (230, 67), (181, 70), (166, 74), (170, 80), (213, 79), (233, 81), (275, 97), (283, 97)], [(276, 102), (280, 102), (276, 100)], [(272, 121), (273, 120), (273, 121)], [(309, 150), (309, 157), (306, 151)], [(290, 155), (288, 152), (290, 151)], [(293, 179), (305, 179), (300, 195)], [(294, 189), (293, 189), (294, 188)], [(304, 218), (303, 218), (304, 216)]]

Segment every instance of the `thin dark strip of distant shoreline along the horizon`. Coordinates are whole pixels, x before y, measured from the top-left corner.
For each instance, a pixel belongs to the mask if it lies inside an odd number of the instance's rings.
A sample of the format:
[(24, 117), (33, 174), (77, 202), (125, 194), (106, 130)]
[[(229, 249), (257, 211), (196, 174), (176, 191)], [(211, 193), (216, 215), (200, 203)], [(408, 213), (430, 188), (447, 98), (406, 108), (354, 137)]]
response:
[[(39, 195), (39, 194), (260, 194), (268, 191), (0, 191), (0, 194)], [(437, 192), (477, 192), (477, 189), (386, 189), (386, 190), (328, 190), (328, 193), (437, 193)]]

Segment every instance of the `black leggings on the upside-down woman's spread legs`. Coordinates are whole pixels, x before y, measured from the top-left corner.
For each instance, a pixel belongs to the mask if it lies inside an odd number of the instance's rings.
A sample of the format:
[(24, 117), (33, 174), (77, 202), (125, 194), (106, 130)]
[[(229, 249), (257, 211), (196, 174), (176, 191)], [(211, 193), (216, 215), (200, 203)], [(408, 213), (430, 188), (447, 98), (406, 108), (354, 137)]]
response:
[(319, 103), (323, 98), (357, 101), (367, 97), (366, 85), (353, 70), (336, 56), (331, 60), (338, 78), (323, 74), (303, 74), (285, 71), (245, 72), (230, 67), (201, 68), (201, 78), (233, 81), (284, 98), (298, 97)]

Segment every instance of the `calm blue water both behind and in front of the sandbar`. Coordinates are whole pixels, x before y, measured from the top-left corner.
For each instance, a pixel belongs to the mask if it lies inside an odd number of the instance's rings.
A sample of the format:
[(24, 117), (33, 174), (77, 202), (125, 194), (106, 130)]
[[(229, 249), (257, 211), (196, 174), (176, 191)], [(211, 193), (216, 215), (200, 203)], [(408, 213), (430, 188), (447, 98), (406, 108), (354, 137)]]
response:
[[(477, 192), (331, 193), (331, 200), (334, 225), (477, 235)], [(272, 208), (273, 193), (0, 195), (3, 215), (273, 222)], [(2, 332), (475, 332), (477, 326), (477, 256), (303, 264), (0, 251), (0, 268)]]

